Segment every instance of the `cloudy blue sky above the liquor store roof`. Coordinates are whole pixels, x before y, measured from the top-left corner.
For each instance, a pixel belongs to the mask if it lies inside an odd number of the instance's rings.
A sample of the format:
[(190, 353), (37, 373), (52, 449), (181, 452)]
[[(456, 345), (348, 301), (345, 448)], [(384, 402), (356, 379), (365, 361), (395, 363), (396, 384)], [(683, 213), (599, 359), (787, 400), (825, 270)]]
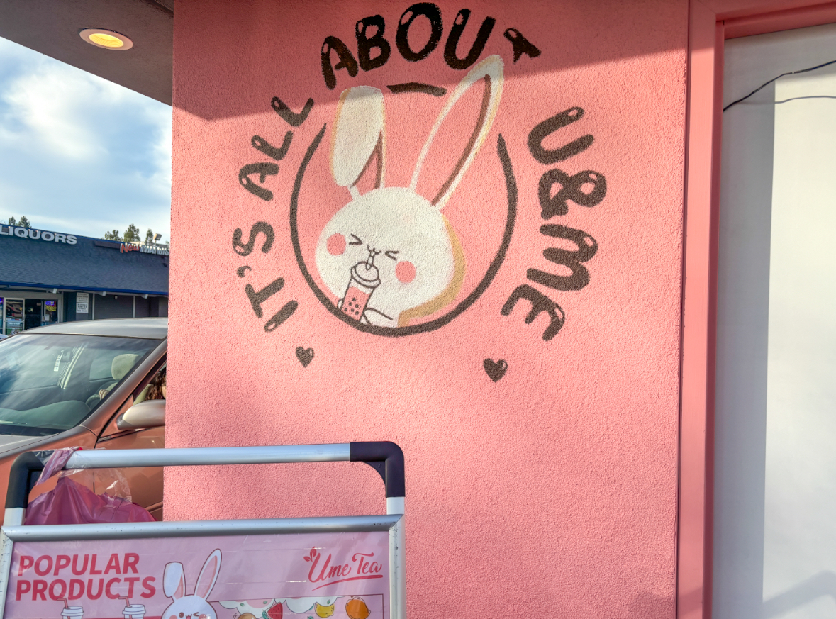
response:
[(21, 216), (167, 242), (171, 106), (0, 38), (0, 223)]

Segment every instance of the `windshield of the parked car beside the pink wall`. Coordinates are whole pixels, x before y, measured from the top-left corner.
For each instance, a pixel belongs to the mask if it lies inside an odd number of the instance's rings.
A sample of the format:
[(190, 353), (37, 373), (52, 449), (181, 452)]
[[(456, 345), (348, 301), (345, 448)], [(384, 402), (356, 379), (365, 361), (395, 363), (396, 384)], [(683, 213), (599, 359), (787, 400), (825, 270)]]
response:
[(21, 333), (0, 344), (0, 434), (47, 436), (88, 417), (158, 340)]

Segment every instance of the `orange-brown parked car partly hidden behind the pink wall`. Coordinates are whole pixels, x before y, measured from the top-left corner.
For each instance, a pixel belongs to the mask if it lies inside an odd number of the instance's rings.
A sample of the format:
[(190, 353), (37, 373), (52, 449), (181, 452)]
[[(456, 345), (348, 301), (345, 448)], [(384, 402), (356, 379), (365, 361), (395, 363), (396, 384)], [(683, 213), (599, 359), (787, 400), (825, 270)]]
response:
[[(3, 340), (0, 497), (25, 451), (164, 447), (167, 335), (167, 318), (131, 318), (59, 323)], [(162, 519), (162, 468), (121, 472), (131, 499)]]

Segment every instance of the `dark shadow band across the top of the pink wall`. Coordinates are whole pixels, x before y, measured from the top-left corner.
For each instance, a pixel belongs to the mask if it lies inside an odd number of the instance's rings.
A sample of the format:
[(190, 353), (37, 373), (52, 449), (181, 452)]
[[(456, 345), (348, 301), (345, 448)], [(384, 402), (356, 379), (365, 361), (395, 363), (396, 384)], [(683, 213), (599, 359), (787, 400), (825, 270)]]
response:
[[(401, 16), (412, 4), (410, 0), (400, 0), (344, 9), (334, 0), (298, 3), (293, 5), (293, 19), (288, 19), (284, 3), (263, 3), (257, 10), (252, 5), (245, 9), (237, 3), (226, 2), (216, 2), (211, 8), (206, 3), (178, 4), (174, 25), (175, 105), (206, 120), (263, 113), (270, 109), (269, 98), (264, 98), (264, 84), (269, 84), (271, 95), (278, 96), (291, 110), (298, 111), (309, 97), (313, 96), (318, 105), (335, 101), (350, 86), (364, 84), (385, 90), (390, 84), (421, 81), (414, 75), (430, 67), (434, 72), (440, 68), (446, 72), (441, 83), (430, 85), (450, 88), (458, 84), (466, 69), (472, 66), (452, 69), (446, 66), (444, 59), (447, 41), (455, 29), (456, 11), (464, 8), (469, 9), (470, 16), (461, 29), (457, 57), (466, 58), (486, 18), (494, 18), (496, 23), (478, 58), (500, 54), (506, 64), (506, 78), (605, 64), (672, 50), (681, 51), (683, 72), (685, 70), (686, 0), (453, 3), (452, 8), (441, 9), (441, 37), (436, 47), (426, 59), (415, 62), (404, 58), (396, 42)], [(535, 18), (528, 18), (523, 23), (519, 19), (523, 13), (533, 14)], [(377, 14), (384, 18), (383, 38), (390, 51), (385, 63), (364, 70), (357, 62), (355, 24)], [(538, 23), (538, 15), (543, 16), (543, 23), (550, 24), (548, 29), (532, 30), (530, 24)], [(430, 22), (421, 17), (414, 23), (416, 43), (412, 45), (420, 49), (420, 45), (431, 38)], [(316, 28), (310, 24), (317, 24)], [(376, 36), (372, 34), (375, 33), (374, 26), (367, 30), (369, 37)], [(306, 31), (311, 34), (306, 35)], [(241, 33), (247, 33), (247, 36), (242, 37)], [(531, 57), (520, 52), (514, 62), (512, 39), (519, 34), (541, 53)], [(346, 69), (335, 70), (333, 90), (326, 89), (322, 69), (320, 52), (326, 36), (339, 38), (354, 59), (351, 67), (354, 77)], [(411, 29), (409, 36), (411, 41)], [(379, 58), (380, 49), (372, 49), (370, 56), (373, 61)], [(339, 64), (337, 51), (332, 50), (329, 57), (332, 65)], [(348, 64), (352, 64), (351, 59)], [(594, 79), (592, 74), (590, 79)], [(647, 75), (646, 79), (650, 83), (652, 76)], [(314, 84), (315, 93), (311, 84)], [(624, 96), (624, 93), (613, 95)]]

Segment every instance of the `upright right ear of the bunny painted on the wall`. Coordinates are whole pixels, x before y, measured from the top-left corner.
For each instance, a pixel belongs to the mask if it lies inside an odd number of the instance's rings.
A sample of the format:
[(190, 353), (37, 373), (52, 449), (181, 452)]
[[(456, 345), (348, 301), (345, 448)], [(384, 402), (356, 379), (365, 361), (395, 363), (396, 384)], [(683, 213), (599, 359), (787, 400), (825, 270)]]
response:
[(421, 174), (421, 166), (424, 163), (427, 153), (430, 151), (432, 141), (435, 139), (436, 133), (438, 133), (446, 115), (453, 108), (453, 105), (456, 105), (456, 101), (461, 99), (461, 95), (464, 95), (477, 81), (484, 79), (485, 94), (482, 97), (482, 107), (477, 115), (476, 127), (473, 129), (472, 136), (467, 141), (467, 146), (465, 146), (464, 152), (461, 153), (459, 161), (456, 162), (456, 166), (453, 167), (450, 176), (447, 177), (441, 189), (436, 193), (436, 197), (431, 200), (431, 204), (439, 209), (444, 208), (452, 192), (456, 191), (461, 177), (465, 175), (467, 168), (470, 167), (473, 159), (477, 156), (477, 152), (482, 147), (482, 142), (485, 141), (487, 132), (491, 130), (493, 119), (497, 115), (497, 109), (499, 108), (499, 99), (502, 96), (502, 83), (504, 81), (503, 68), (502, 58), (494, 55), (482, 60), (481, 63), (471, 69), (470, 73), (466, 74), (465, 78), (456, 86), (456, 90), (453, 90), (452, 95), (450, 95), (450, 100), (447, 101), (447, 105), (441, 110), (436, 124), (433, 125), (430, 131), (430, 136), (427, 138), (423, 150), (421, 150), (421, 155), (418, 156), (418, 163), (415, 164), (415, 172), (412, 174), (412, 182), (410, 182), (410, 189), (413, 192), (415, 191), (415, 187), (418, 186), (418, 176)]

